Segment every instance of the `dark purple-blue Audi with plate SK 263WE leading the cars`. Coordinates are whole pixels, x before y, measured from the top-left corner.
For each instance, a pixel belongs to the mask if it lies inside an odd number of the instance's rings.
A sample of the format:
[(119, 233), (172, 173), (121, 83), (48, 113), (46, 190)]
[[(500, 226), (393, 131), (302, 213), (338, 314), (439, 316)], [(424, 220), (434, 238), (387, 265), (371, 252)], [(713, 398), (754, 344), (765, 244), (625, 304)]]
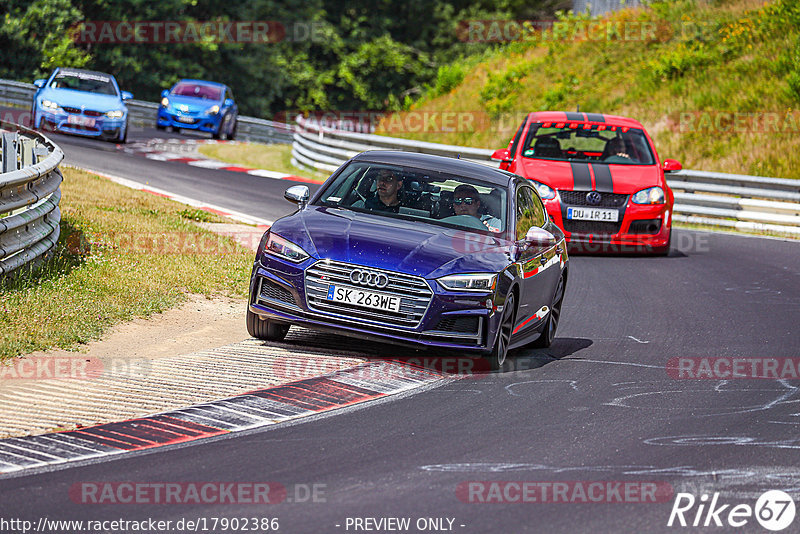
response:
[(275, 221), (256, 253), (250, 335), (290, 325), (483, 355), (547, 347), (561, 316), (564, 234), (526, 180), (464, 160), (364, 152)]

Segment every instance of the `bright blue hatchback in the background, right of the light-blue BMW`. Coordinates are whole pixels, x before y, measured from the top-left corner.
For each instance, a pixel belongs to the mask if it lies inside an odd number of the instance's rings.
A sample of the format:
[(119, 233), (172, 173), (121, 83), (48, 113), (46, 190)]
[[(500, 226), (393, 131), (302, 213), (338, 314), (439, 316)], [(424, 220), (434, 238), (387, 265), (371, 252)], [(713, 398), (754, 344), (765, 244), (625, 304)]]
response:
[(230, 87), (203, 80), (181, 80), (161, 92), (156, 127), (208, 132), (214, 139), (234, 139), (239, 108)]

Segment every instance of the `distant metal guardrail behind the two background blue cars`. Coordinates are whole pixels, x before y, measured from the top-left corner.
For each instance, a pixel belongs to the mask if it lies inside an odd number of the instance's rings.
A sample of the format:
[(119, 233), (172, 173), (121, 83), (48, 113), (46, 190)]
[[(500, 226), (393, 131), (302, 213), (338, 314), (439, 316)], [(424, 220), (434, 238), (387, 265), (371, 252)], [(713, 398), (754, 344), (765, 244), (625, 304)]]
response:
[[(24, 106), (28, 110), (33, 102), (36, 87), (31, 83), (0, 79), (0, 102)], [(158, 104), (144, 100), (128, 100), (128, 120), (131, 126), (156, 126)], [(256, 117), (240, 116), (237, 122), (237, 137), (259, 143), (291, 143), (294, 129), (291, 125), (268, 121)]]

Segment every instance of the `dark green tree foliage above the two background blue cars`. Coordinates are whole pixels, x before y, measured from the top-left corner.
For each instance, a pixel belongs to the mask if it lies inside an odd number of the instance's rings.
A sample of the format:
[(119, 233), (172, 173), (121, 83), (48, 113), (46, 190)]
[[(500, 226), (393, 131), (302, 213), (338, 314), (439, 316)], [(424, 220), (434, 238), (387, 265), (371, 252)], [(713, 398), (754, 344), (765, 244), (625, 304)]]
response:
[[(569, 4), (569, 2), (566, 2)], [(485, 43), (458, 40), (459, 21), (552, 16), (565, 0), (4, 0), (0, 77), (33, 80), (56, 66), (110, 72), (154, 101), (181, 78), (230, 85), (246, 114), (400, 109), (453, 60)], [(82, 21), (277, 21), (270, 43), (96, 43)], [(448, 84), (437, 90), (446, 90)]]

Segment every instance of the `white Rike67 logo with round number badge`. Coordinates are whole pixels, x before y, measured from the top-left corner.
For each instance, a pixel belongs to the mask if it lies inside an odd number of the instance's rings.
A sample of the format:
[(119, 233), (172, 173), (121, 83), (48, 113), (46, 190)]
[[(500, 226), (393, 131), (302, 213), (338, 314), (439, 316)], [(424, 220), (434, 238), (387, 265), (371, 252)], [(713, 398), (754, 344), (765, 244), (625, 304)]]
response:
[(762, 527), (777, 532), (792, 524), (795, 511), (792, 497), (780, 490), (762, 494), (755, 507), (749, 504), (721, 504), (719, 493), (714, 493), (710, 502), (708, 495), (697, 499), (691, 493), (678, 493), (667, 526), (743, 527), (755, 517)]

